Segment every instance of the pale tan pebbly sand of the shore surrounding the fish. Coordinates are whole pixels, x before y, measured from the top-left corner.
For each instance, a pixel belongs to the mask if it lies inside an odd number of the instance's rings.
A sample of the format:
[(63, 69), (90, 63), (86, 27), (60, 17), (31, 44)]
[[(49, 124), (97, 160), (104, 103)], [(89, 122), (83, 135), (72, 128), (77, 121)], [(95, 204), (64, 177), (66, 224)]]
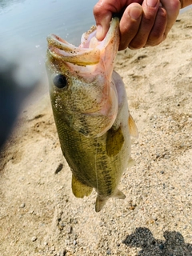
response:
[(45, 95), (18, 118), (1, 156), (0, 255), (192, 255), (192, 10), (165, 42), (118, 54), (138, 126), (125, 200), (95, 213), (71, 173)]

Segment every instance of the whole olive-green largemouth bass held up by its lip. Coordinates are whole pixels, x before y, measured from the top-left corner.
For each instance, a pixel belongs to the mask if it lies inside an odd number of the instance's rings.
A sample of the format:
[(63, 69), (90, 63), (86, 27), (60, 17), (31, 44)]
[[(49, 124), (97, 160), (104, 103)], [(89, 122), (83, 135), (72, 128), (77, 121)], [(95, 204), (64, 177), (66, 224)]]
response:
[(96, 212), (109, 198), (126, 198), (118, 185), (134, 162), (130, 136), (138, 137), (125, 85), (114, 71), (119, 38), (118, 18), (112, 18), (102, 41), (95, 26), (82, 34), (78, 47), (55, 34), (47, 37), (50, 101), (62, 154), (72, 171), (72, 191), (84, 198), (94, 189)]

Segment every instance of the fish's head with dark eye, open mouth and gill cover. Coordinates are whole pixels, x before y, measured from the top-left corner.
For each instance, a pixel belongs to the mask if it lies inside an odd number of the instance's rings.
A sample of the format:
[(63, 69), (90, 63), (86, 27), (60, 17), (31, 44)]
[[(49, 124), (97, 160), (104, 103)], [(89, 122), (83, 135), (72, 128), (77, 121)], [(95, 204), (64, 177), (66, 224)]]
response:
[(118, 52), (118, 18), (101, 42), (96, 27), (82, 35), (76, 47), (51, 34), (48, 38), (46, 70), (54, 118), (62, 118), (86, 137), (105, 134), (118, 114), (118, 93), (112, 78)]

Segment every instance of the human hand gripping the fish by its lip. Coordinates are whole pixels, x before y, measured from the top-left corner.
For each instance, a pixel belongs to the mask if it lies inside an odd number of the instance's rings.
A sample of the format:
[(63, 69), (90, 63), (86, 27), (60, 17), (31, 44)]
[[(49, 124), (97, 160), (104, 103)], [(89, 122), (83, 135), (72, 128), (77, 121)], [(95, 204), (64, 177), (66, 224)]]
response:
[(94, 6), (97, 38), (102, 40), (113, 14), (120, 14), (119, 50), (139, 49), (162, 42), (178, 16), (179, 0), (99, 0)]

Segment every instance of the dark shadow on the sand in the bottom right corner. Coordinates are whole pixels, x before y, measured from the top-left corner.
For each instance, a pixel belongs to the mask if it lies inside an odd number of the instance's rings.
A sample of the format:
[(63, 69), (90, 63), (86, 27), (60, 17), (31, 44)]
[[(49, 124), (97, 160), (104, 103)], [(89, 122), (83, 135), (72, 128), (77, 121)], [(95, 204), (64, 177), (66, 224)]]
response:
[(192, 256), (192, 244), (185, 243), (181, 233), (165, 231), (163, 236), (165, 241), (155, 239), (149, 229), (138, 227), (123, 243), (141, 248), (138, 256)]

